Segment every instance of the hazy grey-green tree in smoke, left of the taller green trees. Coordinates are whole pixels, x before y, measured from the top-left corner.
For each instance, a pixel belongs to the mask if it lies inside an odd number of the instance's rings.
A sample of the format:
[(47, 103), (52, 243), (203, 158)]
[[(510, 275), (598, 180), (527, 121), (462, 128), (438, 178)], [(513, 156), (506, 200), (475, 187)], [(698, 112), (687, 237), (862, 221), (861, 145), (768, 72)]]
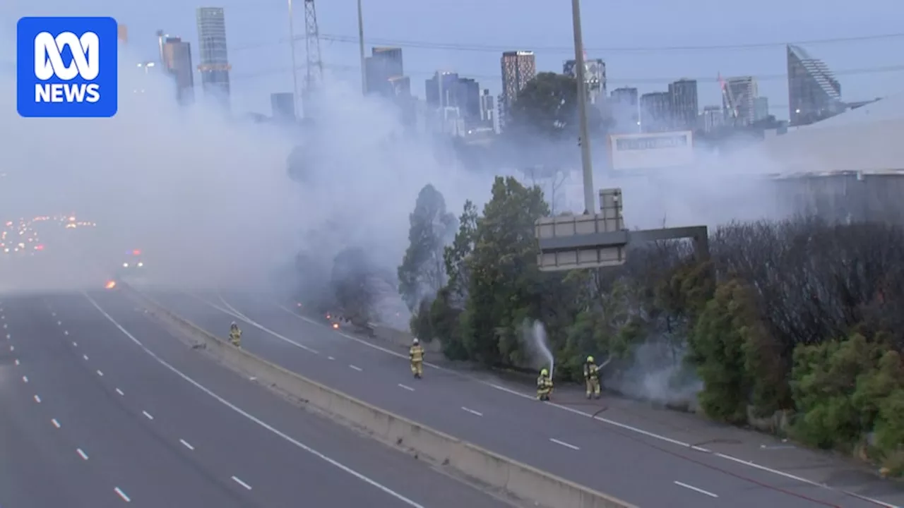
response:
[(409, 247), (398, 269), (399, 293), (414, 312), (423, 300), (432, 300), (446, 284), (443, 253), (456, 219), (446, 211), (443, 194), (427, 184), (418, 193), (409, 223)]

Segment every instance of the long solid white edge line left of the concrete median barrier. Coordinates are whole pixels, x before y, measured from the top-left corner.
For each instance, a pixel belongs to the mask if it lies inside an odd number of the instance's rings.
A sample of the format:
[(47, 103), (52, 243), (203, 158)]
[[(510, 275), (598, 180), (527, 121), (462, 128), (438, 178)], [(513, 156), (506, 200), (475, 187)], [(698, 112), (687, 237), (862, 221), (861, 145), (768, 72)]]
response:
[(391, 495), (392, 497), (398, 499), (400, 502), (405, 503), (405, 504), (408, 504), (408, 505), (411, 506), (412, 508), (426, 508), (423, 504), (416, 503), (415, 501), (412, 501), (411, 499), (405, 497), (404, 495), (402, 495), (402, 494), (400, 494), (400, 493), (398, 493), (398, 492), (392, 490), (390, 487), (388, 487), (388, 486), (386, 486), (386, 485), (384, 485), (384, 484), (381, 484), (381, 483), (377, 482), (376, 480), (372, 480), (370, 477), (365, 476), (365, 475), (363, 475), (363, 474), (361, 474), (361, 473), (355, 471), (354, 469), (352, 469), (352, 468), (349, 467), (349, 466), (345, 466), (343, 463), (341, 463), (341, 462), (335, 460), (334, 458), (330, 458), (329, 456), (325, 456), (324, 454), (318, 452), (318, 451), (315, 450), (314, 448), (308, 447), (306, 444), (304, 444), (304, 443), (302, 443), (301, 441), (297, 440), (295, 437), (291, 437), (291, 436), (287, 435), (285, 432), (282, 432), (282, 431), (279, 430), (278, 428), (275, 428), (275, 427), (273, 427), (272, 425), (269, 425), (269, 424), (268, 424), (267, 422), (265, 422), (264, 420), (259, 419), (258, 417), (256, 417), (256, 416), (250, 414), (249, 412), (245, 411), (244, 409), (239, 408), (239, 407), (236, 406), (235, 404), (231, 403), (229, 400), (223, 399), (221, 396), (217, 395), (217, 394), (214, 393), (212, 390), (208, 389), (207, 387), (205, 387), (204, 385), (202, 385), (202, 384), (199, 383), (198, 381), (194, 381), (194, 380), (193, 380), (192, 378), (190, 378), (188, 375), (186, 375), (186, 374), (184, 374), (182, 371), (176, 369), (173, 365), (170, 365), (170, 364), (169, 364), (168, 362), (166, 362), (163, 358), (160, 358), (159, 356), (157, 356), (157, 354), (154, 353), (153, 351), (147, 349), (147, 347), (146, 347), (146, 345), (145, 345), (144, 343), (142, 343), (142, 342), (139, 341), (137, 338), (135, 338), (135, 335), (130, 334), (130, 333), (128, 332), (128, 330), (126, 330), (125, 328), (122, 327), (122, 325), (119, 325), (119, 323), (117, 322), (117, 320), (113, 319), (113, 317), (112, 317), (111, 315), (108, 315), (108, 314), (107, 314), (107, 311), (105, 311), (103, 308), (101, 308), (101, 307), (98, 305), (98, 303), (97, 303), (96, 301), (94, 301), (94, 298), (91, 298), (91, 297), (88, 295), (88, 293), (84, 293), (84, 292), (83, 292), (82, 295), (84, 295), (86, 298), (88, 298), (88, 301), (91, 302), (91, 305), (94, 306), (94, 308), (98, 309), (98, 311), (99, 311), (100, 314), (102, 314), (104, 317), (106, 317), (107, 320), (108, 320), (110, 323), (112, 323), (113, 325), (115, 325), (115, 326), (118, 328), (118, 330), (119, 330), (120, 332), (122, 332), (123, 334), (125, 334), (125, 335), (126, 335), (133, 343), (136, 343), (136, 344), (138, 345), (138, 347), (140, 347), (145, 353), (147, 353), (148, 355), (150, 355), (151, 358), (154, 358), (158, 363), (160, 363), (161, 365), (163, 365), (163, 366), (164, 366), (166, 369), (168, 369), (170, 372), (173, 372), (175, 375), (179, 376), (179, 377), (182, 378), (184, 381), (186, 381), (186, 382), (188, 382), (189, 384), (193, 385), (193, 386), (194, 386), (195, 388), (197, 388), (198, 390), (201, 390), (201, 391), (203, 391), (204, 393), (206, 393), (207, 395), (211, 396), (213, 399), (218, 400), (222, 405), (224, 405), (224, 406), (226, 406), (227, 408), (232, 409), (233, 411), (239, 413), (241, 416), (245, 417), (246, 419), (250, 419), (250, 420), (253, 421), (254, 423), (258, 424), (261, 428), (266, 428), (268, 431), (272, 432), (273, 434), (277, 435), (278, 437), (282, 437), (282, 438), (285, 439), (288, 443), (291, 443), (291, 444), (295, 445), (296, 447), (298, 447), (298, 448), (300, 448), (300, 449), (306, 451), (307, 453), (309, 453), (309, 454), (311, 454), (311, 455), (313, 455), (313, 456), (319, 458), (320, 460), (323, 460), (325, 463), (329, 464), (330, 466), (334, 466), (334, 467), (336, 467), (337, 469), (342, 470), (344, 473), (347, 473), (347, 474), (349, 474), (349, 475), (352, 475), (352, 476), (354, 476), (355, 478), (357, 478), (358, 480), (361, 480), (361, 481), (364, 482), (365, 484), (371, 485), (372, 487), (374, 487), (374, 488), (380, 490), (383, 494)]

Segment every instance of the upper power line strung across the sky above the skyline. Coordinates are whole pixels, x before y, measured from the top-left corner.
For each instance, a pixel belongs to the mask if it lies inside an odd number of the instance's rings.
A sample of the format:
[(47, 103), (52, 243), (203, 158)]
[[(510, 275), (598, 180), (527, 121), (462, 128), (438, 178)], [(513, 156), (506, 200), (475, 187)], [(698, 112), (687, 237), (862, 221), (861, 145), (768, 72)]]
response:
[[(810, 39), (805, 41), (793, 42), (750, 42), (739, 44), (704, 44), (704, 45), (669, 45), (669, 46), (621, 46), (621, 47), (598, 47), (587, 48), (587, 52), (596, 53), (616, 53), (616, 52), (700, 52), (700, 51), (717, 51), (717, 50), (744, 50), (757, 48), (771, 48), (785, 46), (786, 44), (794, 44), (801, 46), (815, 46), (834, 43), (850, 43), (865, 41), (881, 41), (886, 39), (899, 39), (904, 37), (904, 33), (880, 33), (873, 35), (859, 35), (855, 37), (831, 37), (825, 39)], [(358, 43), (357, 36), (343, 35), (335, 33), (321, 33), (321, 40), (340, 43)], [(513, 48), (529, 49), (533, 52), (573, 52), (574, 48), (569, 46), (532, 46), (530, 44), (511, 44), (506, 46), (496, 46), (489, 44), (466, 44), (460, 42), (428, 42), (428, 41), (412, 41), (403, 39), (381, 39), (372, 38), (365, 39), (368, 44), (397, 46), (401, 48), (419, 48), (427, 50), (457, 51), (457, 52), (508, 52)], [(237, 46), (231, 48), (234, 51), (250, 50), (254, 48), (272, 46), (276, 44), (287, 44), (288, 39), (281, 39), (278, 42), (258, 42), (255, 44)]]

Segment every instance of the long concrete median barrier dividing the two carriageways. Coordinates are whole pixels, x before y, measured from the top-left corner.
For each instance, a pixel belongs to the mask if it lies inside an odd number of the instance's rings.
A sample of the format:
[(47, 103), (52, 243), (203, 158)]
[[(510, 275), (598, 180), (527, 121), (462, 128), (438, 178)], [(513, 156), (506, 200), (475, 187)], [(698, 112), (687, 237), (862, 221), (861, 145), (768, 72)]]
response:
[(258, 382), (289, 398), (342, 419), (419, 459), (451, 468), (458, 475), (472, 478), (479, 484), (548, 508), (636, 508), (633, 504), (495, 454), (308, 380), (207, 333), (134, 288), (120, 285), (119, 289), (144, 306), (149, 314), (174, 326), (193, 343), (233, 369), (256, 377)]

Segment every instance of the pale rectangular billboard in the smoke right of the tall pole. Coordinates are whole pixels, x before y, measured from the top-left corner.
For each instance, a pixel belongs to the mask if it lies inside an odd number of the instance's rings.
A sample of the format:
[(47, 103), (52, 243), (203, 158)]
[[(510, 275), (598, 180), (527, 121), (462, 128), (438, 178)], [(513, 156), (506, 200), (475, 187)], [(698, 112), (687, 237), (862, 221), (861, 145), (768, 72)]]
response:
[(684, 167), (693, 164), (693, 132), (612, 134), (608, 151), (616, 171)]

